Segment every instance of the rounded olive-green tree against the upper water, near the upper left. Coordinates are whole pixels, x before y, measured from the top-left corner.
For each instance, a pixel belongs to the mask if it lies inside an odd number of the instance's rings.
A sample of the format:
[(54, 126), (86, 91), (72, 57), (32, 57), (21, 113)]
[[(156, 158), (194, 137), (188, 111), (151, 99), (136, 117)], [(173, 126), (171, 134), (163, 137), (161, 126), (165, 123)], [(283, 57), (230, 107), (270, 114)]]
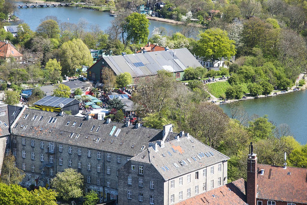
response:
[(43, 37), (46, 37), (46, 38), (58, 39), (60, 37), (59, 25), (56, 21), (54, 21), (52, 19), (43, 21), (37, 27), (36, 33), (39, 36), (43, 36)]

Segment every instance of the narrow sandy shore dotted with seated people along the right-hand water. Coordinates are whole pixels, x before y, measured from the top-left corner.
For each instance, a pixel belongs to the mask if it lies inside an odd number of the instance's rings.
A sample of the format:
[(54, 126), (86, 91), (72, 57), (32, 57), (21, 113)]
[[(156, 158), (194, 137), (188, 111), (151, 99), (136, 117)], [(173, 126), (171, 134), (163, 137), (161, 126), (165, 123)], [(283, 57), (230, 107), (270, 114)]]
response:
[[(304, 76), (304, 73), (301, 73), (300, 75), (299, 75), (299, 77), (298, 77), (298, 79), (296, 79), (296, 82), (295, 82), (295, 84), (297, 85), (298, 84), (298, 81), (300, 80), (300, 79), (303, 79), (303, 76)], [(306, 82), (306, 79), (305, 79), (305, 82)], [(272, 91), (271, 93), (277, 93), (277, 94), (270, 94), (270, 95), (259, 95), (258, 97), (253, 97), (253, 96), (246, 96), (246, 98), (245, 99), (231, 99), (231, 100), (227, 100), (225, 103), (233, 103), (233, 102), (236, 102), (236, 101), (240, 101), (240, 100), (250, 100), (250, 99), (256, 99), (256, 98), (266, 98), (266, 97), (272, 97), (272, 96), (276, 96), (276, 95), (282, 95), (282, 94), (286, 94), (286, 93), (290, 93), (290, 92), (296, 92), (296, 91), (302, 91), (302, 90), (305, 90), (306, 88), (307, 88), (307, 85), (305, 84), (305, 85), (303, 85), (302, 87), (300, 87), (300, 89), (299, 90), (293, 90), (294, 88), (297, 88), (297, 86), (293, 86), (293, 87), (291, 87), (290, 89), (288, 89), (288, 91), (285, 91), (285, 92), (282, 92), (282, 91)], [(210, 93), (209, 93), (210, 94)], [(213, 96), (213, 95), (211, 95), (210, 94), (210, 96), (211, 96), (211, 99), (209, 100), (209, 102), (211, 102), (212, 100), (213, 101), (215, 101), (216, 103), (216, 105), (221, 105), (221, 103), (220, 102), (222, 102), (223, 100), (220, 100), (220, 99), (218, 99), (218, 98), (216, 98), (215, 96)], [(225, 103), (223, 103), (223, 104), (225, 104)]]

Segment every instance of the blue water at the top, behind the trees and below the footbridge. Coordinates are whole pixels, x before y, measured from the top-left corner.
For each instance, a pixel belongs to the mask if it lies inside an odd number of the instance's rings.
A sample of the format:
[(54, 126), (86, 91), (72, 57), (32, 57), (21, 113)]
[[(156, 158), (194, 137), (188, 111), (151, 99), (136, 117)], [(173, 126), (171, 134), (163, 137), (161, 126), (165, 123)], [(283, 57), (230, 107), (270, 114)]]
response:
[[(14, 1), (14, 3), (23, 3), (20, 1)], [(97, 10), (91, 9), (77, 9), (72, 6), (60, 6), (60, 7), (43, 7), (38, 6), (37, 8), (17, 8), (15, 15), (19, 17), (21, 20), (27, 23), (31, 30), (35, 31), (37, 26), (41, 23), (41, 19), (46, 16), (56, 16), (61, 22), (70, 22), (77, 23), (80, 18), (84, 18), (88, 21), (88, 28), (91, 25), (98, 24), (101, 30), (106, 30), (110, 25), (110, 22), (114, 19), (114, 17), (110, 17), (108, 12), (101, 12)], [(161, 21), (152, 21), (150, 20), (149, 30), (150, 34), (153, 31), (154, 27), (164, 27), (169, 33), (174, 33), (177, 31), (181, 31), (183, 25), (176, 25), (165, 23)]]

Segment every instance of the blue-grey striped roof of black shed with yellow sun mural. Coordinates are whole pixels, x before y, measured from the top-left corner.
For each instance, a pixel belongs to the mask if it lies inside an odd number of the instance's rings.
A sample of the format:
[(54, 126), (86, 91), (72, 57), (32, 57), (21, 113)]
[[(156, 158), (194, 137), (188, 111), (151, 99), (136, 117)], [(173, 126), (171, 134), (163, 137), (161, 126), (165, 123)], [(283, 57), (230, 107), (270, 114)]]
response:
[(59, 107), (60, 104), (64, 106), (68, 104), (77, 104), (80, 103), (79, 100), (74, 98), (60, 98), (56, 96), (45, 96), (44, 98), (40, 99), (39, 101), (33, 103), (34, 105), (44, 105), (44, 106), (52, 106), (52, 107)]

